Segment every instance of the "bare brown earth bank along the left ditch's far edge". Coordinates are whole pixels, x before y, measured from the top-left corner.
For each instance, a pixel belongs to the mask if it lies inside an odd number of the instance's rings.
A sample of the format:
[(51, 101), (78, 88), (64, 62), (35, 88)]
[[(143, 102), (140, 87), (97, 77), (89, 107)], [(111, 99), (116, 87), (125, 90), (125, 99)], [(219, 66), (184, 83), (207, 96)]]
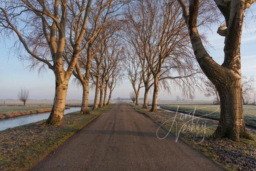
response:
[[(66, 106), (65, 109), (69, 109), (69, 106)], [(52, 108), (47, 109), (38, 109), (38, 110), (28, 110), (28, 111), (20, 111), (20, 112), (10, 112), (10, 113), (0, 113), (0, 119), (12, 118), (22, 115), (30, 115), (36, 113), (50, 112)]]

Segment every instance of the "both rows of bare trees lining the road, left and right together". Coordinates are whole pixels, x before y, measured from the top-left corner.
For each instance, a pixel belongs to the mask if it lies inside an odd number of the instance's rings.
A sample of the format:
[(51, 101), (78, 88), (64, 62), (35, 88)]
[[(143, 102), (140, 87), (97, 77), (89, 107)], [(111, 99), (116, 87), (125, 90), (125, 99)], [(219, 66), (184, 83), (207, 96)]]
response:
[[(61, 124), (72, 74), (83, 86), (81, 113), (88, 113), (90, 86), (96, 90), (94, 108), (104, 106), (108, 89), (112, 91), (123, 70), (132, 83), (136, 104), (144, 87), (143, 108), (147, 108), (148, 92), (154, 89), (153, 112), (159, 88), (169, 92), (179, 88), (192, 97), (194, 89), (201, 88), (204, 73), (220, 99), (214, 135), (239, 141), (252, 139), (243, 117), (240, 44), (245, 10), (254, 2), (3, 0), (0, 33), (18, 38), (13, 49), (32, 67), (38, 66), (39, 72), (48, 67), (55, 74), (54, 104), (47, 124)], [(225, 37), (222, 65), (208, 54), (206, 37), (198, 31), (220, 20), (224, 24), (217, 33)]]

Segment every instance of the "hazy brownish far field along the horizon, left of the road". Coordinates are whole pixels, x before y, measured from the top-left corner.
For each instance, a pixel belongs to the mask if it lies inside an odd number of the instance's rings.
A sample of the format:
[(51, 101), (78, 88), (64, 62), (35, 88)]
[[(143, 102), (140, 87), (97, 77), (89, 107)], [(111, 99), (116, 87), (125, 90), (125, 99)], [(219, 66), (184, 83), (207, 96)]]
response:
[[(82, 100), (66, 100), (66, 104), (81, 104)], [(89, 104), (93, 104), (93, 100), (88, 101)], [(48, 104), (52, 105), (53, 100), (27, 100), (26, 105), (39, 105)], [(0, 100), (0, 105), (23, 105), (20, 100)]]

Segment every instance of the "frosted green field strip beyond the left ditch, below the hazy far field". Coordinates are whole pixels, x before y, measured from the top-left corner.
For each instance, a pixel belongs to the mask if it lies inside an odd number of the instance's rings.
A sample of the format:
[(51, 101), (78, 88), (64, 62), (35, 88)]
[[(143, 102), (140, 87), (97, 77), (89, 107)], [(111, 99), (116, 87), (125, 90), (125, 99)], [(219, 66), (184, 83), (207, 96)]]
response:
[(47, 109), (52, 106), (0, 106), (0, 113), (21, 112), (28, 110)]

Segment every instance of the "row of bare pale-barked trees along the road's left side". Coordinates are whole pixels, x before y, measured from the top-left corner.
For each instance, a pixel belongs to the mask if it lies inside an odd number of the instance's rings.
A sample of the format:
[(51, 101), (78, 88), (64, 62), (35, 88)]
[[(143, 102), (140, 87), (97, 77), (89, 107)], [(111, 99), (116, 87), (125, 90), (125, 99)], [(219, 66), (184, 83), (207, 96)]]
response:
[[(15, 39), (13, 50), (43, 74), (55, 75), (55, 96), (46, 124), (62, 123), (68, 83), (73, 74), (83, 87), (81, 114), (89, 113), (89, 88), (95, 87), (94, 109), (110, 102), (121, 81), (118, 31), (122, 1), (0, 1), (0, 33)], [(90, 82), (92, 84), (90, 84)], [(107, 92), (110, 90), (108, 102)]]

